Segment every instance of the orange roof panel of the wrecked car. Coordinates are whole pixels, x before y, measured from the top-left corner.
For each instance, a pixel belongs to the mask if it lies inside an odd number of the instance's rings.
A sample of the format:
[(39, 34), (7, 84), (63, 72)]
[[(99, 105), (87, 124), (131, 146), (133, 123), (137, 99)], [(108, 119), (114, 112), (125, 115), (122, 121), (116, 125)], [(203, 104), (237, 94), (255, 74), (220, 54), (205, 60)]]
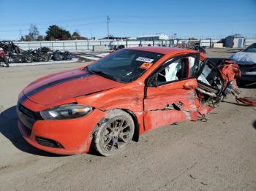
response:
[(146, 47), (129, 47), (128, 49), (131, 50), (143, 50), (148, 52), (157, 52), (164, 55), (167, 54), (176, 54), (176, 53), (182, 53), (182, 52), (197, 52), (195, 50), (188, 50), (188, 49), (181, 49), (176, 47), (153, 47), (153, 46), (146, 46)]

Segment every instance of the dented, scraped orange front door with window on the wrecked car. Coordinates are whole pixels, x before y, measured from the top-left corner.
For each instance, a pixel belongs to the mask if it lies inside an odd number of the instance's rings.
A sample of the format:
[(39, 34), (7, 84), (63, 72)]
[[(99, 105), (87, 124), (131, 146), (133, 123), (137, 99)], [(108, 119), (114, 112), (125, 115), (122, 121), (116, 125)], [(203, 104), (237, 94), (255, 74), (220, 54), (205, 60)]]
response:
[(192, 53), (168, 59), (148, 77), (144, 99), (146, 130), (195, 120), (198, 71), (199, 53)]

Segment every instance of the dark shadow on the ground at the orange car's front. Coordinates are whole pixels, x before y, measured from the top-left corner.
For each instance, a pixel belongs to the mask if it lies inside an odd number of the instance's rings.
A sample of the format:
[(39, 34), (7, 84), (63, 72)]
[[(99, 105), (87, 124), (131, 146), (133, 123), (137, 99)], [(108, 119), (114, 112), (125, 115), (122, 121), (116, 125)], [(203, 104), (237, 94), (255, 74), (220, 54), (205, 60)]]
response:
[(16, 148), (23, 152), (45, 157), (64, 156), (39, 150), (35, 147), (32, 147), (26, 142), (25, 139), (23, 139), (23, 136), (18, 130), (18, 116), (16, 114), (16, 106), (12, 106), (9, 109), (4, 110), (4, 112), (0, 113), (0, 133), (9, 139)]

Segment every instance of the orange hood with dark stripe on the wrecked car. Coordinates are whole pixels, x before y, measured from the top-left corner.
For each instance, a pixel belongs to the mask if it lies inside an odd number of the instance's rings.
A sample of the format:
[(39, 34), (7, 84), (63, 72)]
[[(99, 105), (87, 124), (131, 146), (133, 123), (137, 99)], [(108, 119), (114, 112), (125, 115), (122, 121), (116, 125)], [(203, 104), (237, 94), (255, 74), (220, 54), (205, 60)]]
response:
[[(122, 84), (82, 69), (50, 74), (31, 82), (23, 90), (23, 98), (36, 104), (50, 105), (80, 95), (88, 95), (119, 87)], [(22, 102), (22, 101), (20, 101)]]

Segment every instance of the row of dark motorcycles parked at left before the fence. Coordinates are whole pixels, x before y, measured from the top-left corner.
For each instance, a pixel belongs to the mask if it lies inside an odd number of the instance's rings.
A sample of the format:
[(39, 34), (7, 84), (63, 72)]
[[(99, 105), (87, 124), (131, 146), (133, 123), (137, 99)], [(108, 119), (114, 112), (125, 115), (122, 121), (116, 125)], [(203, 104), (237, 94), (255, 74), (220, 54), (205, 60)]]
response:
[(31, 63), (53, 61), (69, 61), (74, 58), (69, 51), (52, 51), (48, 47), (40, 47), (35, 50), (21, 50), (13, 42), (0, 42), (0, 63), (3, 62), (7, 67), (9, 63)]

